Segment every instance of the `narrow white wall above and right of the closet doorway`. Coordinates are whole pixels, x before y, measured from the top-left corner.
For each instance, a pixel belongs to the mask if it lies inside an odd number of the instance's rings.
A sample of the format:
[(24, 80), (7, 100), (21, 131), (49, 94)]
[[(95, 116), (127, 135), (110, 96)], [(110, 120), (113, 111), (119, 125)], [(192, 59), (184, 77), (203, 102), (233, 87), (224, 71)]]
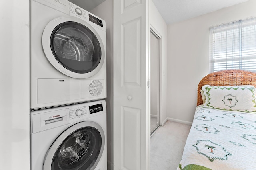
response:
[(163, 125), (167, 120), (167, 25), (152, 0), (150, 1), (149, 17), (151, 28), (160, 35), (160, 68), (162, 68), (160, 72), (160, 82), (162, 83), (160, 86), (160, 102), (162, 103), (160, 106), (160, 115), (162, 115), (162, 117), (160, 116), (160, 125)]

